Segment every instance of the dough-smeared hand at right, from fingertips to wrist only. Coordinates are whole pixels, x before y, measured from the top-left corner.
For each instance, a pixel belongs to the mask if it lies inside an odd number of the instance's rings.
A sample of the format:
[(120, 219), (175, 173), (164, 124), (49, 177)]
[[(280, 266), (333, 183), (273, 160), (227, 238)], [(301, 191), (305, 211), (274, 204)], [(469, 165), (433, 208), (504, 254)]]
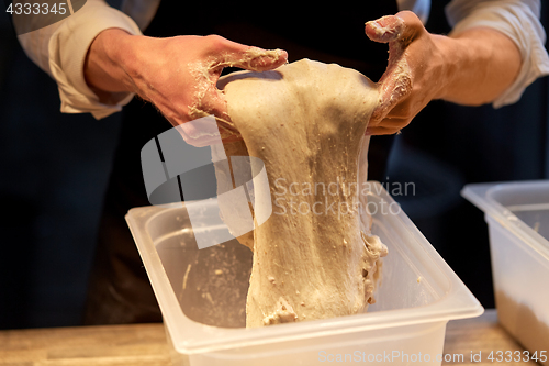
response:
[(389, 43), (389, 65), (379, 80), (380, 104), (367, 133), (393, 134), (440, 92), (445, 79), (444, 57), (437, 45), (440, 36), (428, 33), (410, 11), (366, 23), (366, 34), (374, 42)]

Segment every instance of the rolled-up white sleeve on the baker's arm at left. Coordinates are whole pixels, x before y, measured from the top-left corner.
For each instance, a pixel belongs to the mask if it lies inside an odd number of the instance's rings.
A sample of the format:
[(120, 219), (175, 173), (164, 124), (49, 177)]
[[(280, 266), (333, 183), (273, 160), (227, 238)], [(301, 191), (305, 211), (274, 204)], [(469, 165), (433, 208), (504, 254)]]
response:
[(96, 36), (107, 29), (142, 34), (135, 22), (103, 0), (88, 0), (61, 22), (19, 36), (29, 57), (57, 82), (64, 113), (91, 113), (96, 119), (117, 112), (133, 98), (127, 93), (116, 104), (103, 104), (88, 87), (83, 63)]

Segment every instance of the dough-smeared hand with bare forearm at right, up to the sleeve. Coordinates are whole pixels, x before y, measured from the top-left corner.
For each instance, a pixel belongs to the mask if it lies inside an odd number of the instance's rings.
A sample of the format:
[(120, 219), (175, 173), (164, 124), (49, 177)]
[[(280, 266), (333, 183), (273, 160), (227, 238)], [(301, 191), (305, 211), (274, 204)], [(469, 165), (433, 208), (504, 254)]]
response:
[(495, 29), (430, 34), (410, 11), (366, 23), (366, 34), (389, 43), (369, 134), (399, 132), (433, 99), (464, 106), (494, 101), (514, 82), (523, 62), (514, 41)]

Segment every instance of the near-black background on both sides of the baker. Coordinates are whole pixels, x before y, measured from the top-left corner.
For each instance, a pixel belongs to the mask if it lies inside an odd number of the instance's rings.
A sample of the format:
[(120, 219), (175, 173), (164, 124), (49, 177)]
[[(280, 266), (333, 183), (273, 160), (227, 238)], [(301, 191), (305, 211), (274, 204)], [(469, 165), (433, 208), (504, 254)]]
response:
[[(432, 32), (449, 30), (445, 2), (433, 1)], [(395, 198), (484, 307), (494, 306), (488, 230), (459, 192), (469, 182), (548, 178), (548, 90), (539, 79), (498, 110), (432, 102), (391, 154), (384, 185), (414, 182), (414, 196)], [(80, 323), (120, 122), (59, 106), (55, 82), (0, 12), (0, 329)]]

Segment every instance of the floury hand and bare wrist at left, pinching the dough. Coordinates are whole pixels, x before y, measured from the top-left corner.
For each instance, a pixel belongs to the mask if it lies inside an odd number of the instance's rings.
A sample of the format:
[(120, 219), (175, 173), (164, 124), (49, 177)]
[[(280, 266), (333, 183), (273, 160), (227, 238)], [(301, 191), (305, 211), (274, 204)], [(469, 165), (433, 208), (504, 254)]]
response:
[(214, 114), (222, 137), (232, 141), (235, 130), (226, 100), (215, 86), (223, 68), (262, 71), (287, 59), (284, 51), (245, 46), (216, 35), (155, 38), (112, 29), (93, 41), (85, 75), (100, 98), (112, 98), (117, 91), (136, 92), (173, 126)]

